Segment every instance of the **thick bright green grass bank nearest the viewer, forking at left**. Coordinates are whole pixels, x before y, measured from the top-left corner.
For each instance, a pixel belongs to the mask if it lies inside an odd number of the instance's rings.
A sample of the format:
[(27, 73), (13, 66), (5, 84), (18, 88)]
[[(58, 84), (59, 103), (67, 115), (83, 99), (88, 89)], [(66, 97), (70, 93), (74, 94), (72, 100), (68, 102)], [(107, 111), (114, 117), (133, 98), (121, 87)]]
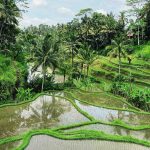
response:
[(71, 132), (59, 132), (56, 130), (49, 130), (49, 129), (41, 129), (41, 130), (32, 130), (20, 136), (14, 136), (10, 138), (5, 138), (0, 140), (1, 144), (6, 144), (8, 142), (15, 142), (18, 140), (23, 140), (22, 144), (15, 148), (16, 150), (23, 150), (25, 149), (31, 138), (36, 135), (48, 135), (58, 139), (63, 140), (107, 140), (107, 141), (116, 141), (116, 142), (127, 142), (127, 143), (134, 143), (143, 146), (150, 147), (150, 142), (145, 140), (139, 140), (137, 138), (133, 138), (131, 136), (120, 136), (120, 135), (110, 135), (106, 134), (102, 131), (95, 131), (95, 130), (78, 130), (78, 131), (71, 131)]

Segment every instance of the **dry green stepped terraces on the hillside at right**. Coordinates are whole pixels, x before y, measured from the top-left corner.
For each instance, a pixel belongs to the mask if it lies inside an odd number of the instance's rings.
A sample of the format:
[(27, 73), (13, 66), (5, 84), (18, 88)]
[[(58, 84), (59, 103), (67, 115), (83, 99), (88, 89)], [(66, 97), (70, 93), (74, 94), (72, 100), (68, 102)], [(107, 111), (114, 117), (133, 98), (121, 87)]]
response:
[[(91, 76), (98, 80), (110, 82), (118, 74), (117, 59), (101, 57), (91, 67)], [(121, 74), (125, 77), (133, 76), (133, 84), (141, 88), (150, 87), (150, 62), (133, 59), (129, 65), (127, 60), (122, 59)]]

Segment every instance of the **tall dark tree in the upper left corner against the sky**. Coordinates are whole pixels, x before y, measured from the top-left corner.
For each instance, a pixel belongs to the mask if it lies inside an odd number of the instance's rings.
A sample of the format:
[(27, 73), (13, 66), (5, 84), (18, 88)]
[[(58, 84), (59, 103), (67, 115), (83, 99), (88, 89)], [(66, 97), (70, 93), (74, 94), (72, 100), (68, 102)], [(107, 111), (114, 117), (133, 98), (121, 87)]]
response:
[(14, 43), (15, 36), (19, 32), (17, 26), (21, 10), (16, 3), (16, 1), (0, 0), (0, 47), (4, 49), (4, 53), (8, 51), (8, 46)]

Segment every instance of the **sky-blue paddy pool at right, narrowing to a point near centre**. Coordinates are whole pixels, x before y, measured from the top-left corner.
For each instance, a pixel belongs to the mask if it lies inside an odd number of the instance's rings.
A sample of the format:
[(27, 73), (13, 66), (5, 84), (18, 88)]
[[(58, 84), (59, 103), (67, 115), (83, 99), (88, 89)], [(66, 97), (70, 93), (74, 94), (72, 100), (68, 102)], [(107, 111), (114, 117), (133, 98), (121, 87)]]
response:
[(77, 100), (75, 100), (75, 102), (78, 107), (88, 112), (98, 120), (110, 122), (116, 119), (120, 119), (129, 125), (150, 125), (150, 115), (95, 107), (81, 103)]

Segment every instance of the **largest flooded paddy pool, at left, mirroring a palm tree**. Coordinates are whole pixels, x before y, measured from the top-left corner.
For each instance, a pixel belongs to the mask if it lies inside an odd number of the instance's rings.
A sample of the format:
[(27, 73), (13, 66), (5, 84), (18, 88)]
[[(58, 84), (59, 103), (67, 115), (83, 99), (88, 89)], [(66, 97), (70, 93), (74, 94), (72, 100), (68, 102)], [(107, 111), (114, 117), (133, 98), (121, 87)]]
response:
[(41, 96), (27, 104), (0, 108), (0, 138), (18, 135), (31, 129), (51, 128), (84, 121), (88, 119), (69, 101), (55, 95)]

